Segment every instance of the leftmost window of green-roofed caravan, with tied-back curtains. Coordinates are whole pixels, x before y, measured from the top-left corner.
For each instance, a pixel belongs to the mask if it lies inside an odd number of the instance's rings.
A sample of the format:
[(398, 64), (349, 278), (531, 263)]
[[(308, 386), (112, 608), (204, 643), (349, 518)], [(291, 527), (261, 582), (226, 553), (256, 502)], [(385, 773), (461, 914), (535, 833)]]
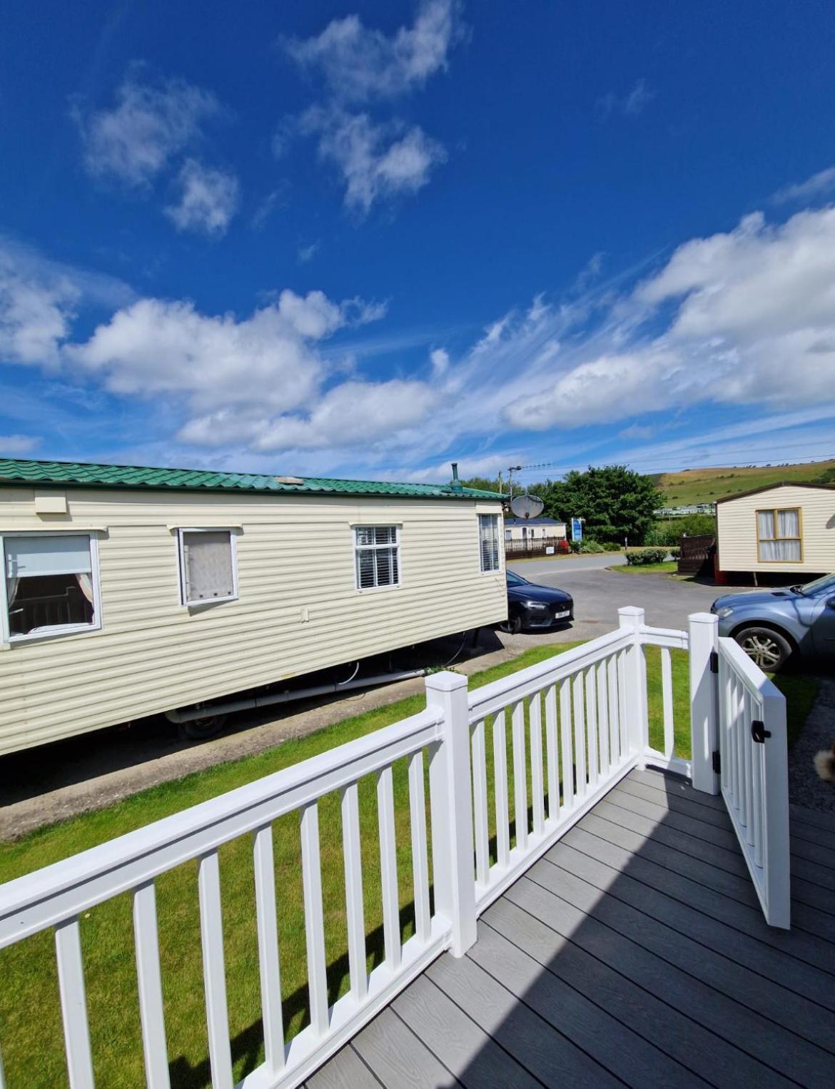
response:
[(99, 627), (96, 559), (88, 534), (5, 537), (4, 634), (15, 639)]

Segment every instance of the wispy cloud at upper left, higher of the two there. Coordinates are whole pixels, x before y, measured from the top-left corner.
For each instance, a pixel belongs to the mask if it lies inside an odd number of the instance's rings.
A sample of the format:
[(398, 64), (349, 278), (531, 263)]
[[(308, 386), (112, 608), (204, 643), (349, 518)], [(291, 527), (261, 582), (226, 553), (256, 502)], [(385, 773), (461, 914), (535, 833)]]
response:
[(90, 174), (147, 187), (173, 156), (199, 140), (202, 123), (221, 112), (211, 91), (183, 79), (154, 86), (133, 73), (116, 91), (114, 107), (85, 115), (76, 106), (73, 117)]

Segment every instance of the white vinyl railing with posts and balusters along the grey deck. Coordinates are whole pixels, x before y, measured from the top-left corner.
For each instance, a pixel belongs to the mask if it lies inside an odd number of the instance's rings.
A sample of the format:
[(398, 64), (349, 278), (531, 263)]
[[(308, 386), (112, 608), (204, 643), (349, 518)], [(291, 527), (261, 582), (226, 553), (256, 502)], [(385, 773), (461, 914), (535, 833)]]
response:
[[(78, 921), (84, 913), (120, 894), (133, 896), (145, 1078), (149, 1089), (169, 1089), (165, 965), (160, 957), (155, 882), (175, 867), (197, 861), (211, 1084), (214, 1089), (232, 1089), (218, 851), (250, 835), (265, 1059), (240, 1086), (296, 1086), (442, 950), (450, 949), (456, 956), (466, 952), (476, 941), (476, 920), (486, 906), (629, 770), (651, 761), (689, 773), (690, 763), (673, 751), (675, 694), (670, 658), (671, 649), (687, 649), (688, 644), (695, 645), (701, 663), (696, 669), (691, 654), (693, 780), (703, 778), (715, 729), (711, 711), (715, 689), (703, 687), (707, 648), (710, 639), (715, 640), (715, 617), (708, 621), (711, 625), (702, 623), (702, 628), (691, 623), (688, 639), (685, 632), (647, 627), (642, 610), (622, 609), (617, 631), (474, 692), (468, 693), (464, 676), (435, 674), (427, 678), (426, 710), (409, 719), (0, 886), (0, 949), (41, 931), (54, 933), (71, 1089), (94, 1087)], [(661, 647), (663, 749), (649, 743), (648, 645)], [(736, 668), (736, 657), (733, 662)], [(748, 666), (748, 673), (754, 669)], [(398, 760), (408, 764), (415, 918), (415, 932), (405, 942), (392, 785), (392, 769)], [(729, 761), (732, 778), (734, 768)], [(358, 802), (358, 783), (368, 775), (376, 778), (377, 787), (384, 947), (382, 962), (370, 972)], [(319, 802), (332, 792), (340, 794), (349, 990), (330, 1004)], [(309, 1024), (287, 1041), (273, 822), (293, 812), (298, 813)], [(768, 828), (768, 816), (763, 820)], [(756, 820), (751, 827), (756, 829)], [(760, 857), (758, 849), (763, 847), (754, 834), (754, 861)], [(768, 870), (768, 853), (762, 865)], [(4, 979), (3, 986), (14, 982)], [(33, 1026), (33, 1062), (37, 1062), (37, 1038)], [(5, 1089), (1, 1063), (0, 1089)]]

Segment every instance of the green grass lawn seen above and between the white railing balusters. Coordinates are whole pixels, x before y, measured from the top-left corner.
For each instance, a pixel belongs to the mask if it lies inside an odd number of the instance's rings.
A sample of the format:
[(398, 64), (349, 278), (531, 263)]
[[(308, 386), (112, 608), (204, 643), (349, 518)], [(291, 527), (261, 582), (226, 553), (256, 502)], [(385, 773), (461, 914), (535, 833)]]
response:
[[(479, 687), (516, 670), (562, 653), (576, 644), (536, 647), (469, 678)], [(689, 756), (687, 656), (672, 652), (675, 694), (675, 748)], [(648, 648), (650, 742), (663, 749), (660, 650)], [(794, 698), (794, 696), (791, 697)], [(355, 718), (306, 737), (284, 742), (268, 752), (210, 768), (175, 783), (134, 795), (120, 804), (41, 829), (0, 846), (0, 882), (140, 828), (188, 806), (214, 797), (262, 775), (297, 763), (335, 745), (363, 736), (425, 706), (422, 694)], [(806, 706), (803, 703), (802, 706)], [(511, 730), (507, 723), (509, 750)], [(488, 733), (488, 776), (492, 796), (492, 745)], [(513, 812), (512, 761), (508, 751), (509, 811)], [(401, 925), (404, 940), (414, 932), (412, 852), (409, 843), (406, 761), (394, 767)], [(528, 795), (530, 797), (530, 793)], [(428, 790), (427, 790), (428, 797)], [(359, 784), (360, 831), (369, 969), (382, 959), (382, 910), (373, 776)], [(495, 834), (491, 809), (492, 836)], [(347, 990), (344, 876), (339, 795), (319, 803), (326, 949), (330, 999)], [(511, 842), (514, 842), (511, 827)], [(287, 1037), (307, 1024), (307, 987), (298, 815), (274, 824), (282, 992)], [(258, 952), (254, 910), (251, 840), (243, 836), (220, 849), (223, 928), (230, 1035), (235, 1078), (262, 1061)], [(431, 873), (431, 869), (430, 869)], [(174, 1089), (210, 1085), (200, 931), (197, 865), (191, 862), (157, 881), (160, 954), (169, 1057)], [(81, 920), (87, 1005), (97, 1085), (144, 1085), (136, 968), (130, 895), (94, 908)], [(10, 1089), (57, 1089), (66, 1085), (58, 981), (52, 934), (41, 933), (0, 952), (0, 1051)]]

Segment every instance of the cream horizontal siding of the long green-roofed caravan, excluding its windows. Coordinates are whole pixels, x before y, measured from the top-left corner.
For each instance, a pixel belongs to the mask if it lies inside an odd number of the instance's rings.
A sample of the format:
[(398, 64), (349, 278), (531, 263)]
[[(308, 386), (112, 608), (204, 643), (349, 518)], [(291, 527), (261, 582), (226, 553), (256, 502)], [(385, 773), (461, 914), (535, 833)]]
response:
[[(0, 489), (0, 530), (100, 530), (98, 632), (0, 652), (0, 752), (503, 620), (478, 512), (499, 503)], [(401, 526), (400, 587), (358, 591), (355, 524)], [(180, 604), (175, 527), (238, 526), (238, 600)]]

